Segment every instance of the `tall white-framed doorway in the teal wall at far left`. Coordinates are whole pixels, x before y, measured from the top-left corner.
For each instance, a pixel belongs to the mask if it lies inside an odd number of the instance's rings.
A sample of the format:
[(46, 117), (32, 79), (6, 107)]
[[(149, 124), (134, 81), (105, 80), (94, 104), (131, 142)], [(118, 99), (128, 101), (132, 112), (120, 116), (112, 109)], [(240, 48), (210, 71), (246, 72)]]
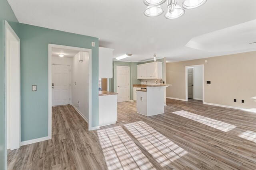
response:
[[(5, 117), (7, 149), (20, 148), (20, 39), (8, 24), (5, 26)], [(6, 151), (7, 152), (7, 151)]]

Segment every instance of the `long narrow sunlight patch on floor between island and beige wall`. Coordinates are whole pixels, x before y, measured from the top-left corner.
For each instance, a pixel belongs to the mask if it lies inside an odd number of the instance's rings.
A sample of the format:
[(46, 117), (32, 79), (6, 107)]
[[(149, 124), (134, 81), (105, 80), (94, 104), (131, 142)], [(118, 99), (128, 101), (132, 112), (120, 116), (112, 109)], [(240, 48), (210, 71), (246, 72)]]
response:
[(230, 124), (222, 122), (222, 121), (218, 121), (218, 120), (215, 120), (215, 119), (211, 119), (209, 117), (204, 117), (204, 116), (201, 116), (201, 115), (190, 113), (190, 112), (184, 111), (184, 110), (174, 111), (172, 113), (174, 113), (176, 115), (180, 115), (182, 117), (186, 117), (186, 118), (194, 120), (194, 121), (197, 121), (199, 123), (202, 123), (204, 125), (213, 127), (215, 129), (218, 129), (218, 130), (221, 130), (221, 131), (224, 131), (224, 132), (228, 132), (228, 131), (236, 128), (236, 126), (234, 126), (234, 125), (230, 125)]

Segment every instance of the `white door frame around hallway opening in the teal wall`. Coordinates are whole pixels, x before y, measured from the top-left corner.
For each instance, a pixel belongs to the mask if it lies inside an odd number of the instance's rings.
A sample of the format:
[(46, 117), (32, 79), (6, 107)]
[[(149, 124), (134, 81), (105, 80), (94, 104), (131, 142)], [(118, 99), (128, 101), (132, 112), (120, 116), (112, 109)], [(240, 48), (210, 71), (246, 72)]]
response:
[(48, 139), (52, 139), (52, 48), (71, 49), (89, 53), (89, 116), (88, 130), (92, 130), (92, 49), (66, 45), (48, 44)]

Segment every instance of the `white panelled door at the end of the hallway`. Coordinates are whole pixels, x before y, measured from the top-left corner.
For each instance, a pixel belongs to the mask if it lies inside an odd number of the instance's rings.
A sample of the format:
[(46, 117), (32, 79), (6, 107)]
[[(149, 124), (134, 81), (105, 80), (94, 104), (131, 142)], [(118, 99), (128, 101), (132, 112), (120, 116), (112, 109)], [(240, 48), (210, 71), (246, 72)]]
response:
[(52, 64), (52, 106), (70, 104), (70, 66)]

